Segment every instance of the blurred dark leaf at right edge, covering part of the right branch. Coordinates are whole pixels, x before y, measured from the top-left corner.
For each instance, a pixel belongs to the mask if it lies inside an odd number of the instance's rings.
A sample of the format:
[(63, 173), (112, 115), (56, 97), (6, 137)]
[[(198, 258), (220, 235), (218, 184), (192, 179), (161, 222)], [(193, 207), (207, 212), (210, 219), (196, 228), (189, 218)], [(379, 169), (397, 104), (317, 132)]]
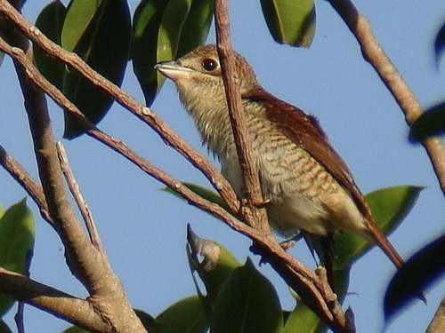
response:
[(411, 126), (409, 140), (422, 141), (445, 133), (445, 101), (430, 107)]

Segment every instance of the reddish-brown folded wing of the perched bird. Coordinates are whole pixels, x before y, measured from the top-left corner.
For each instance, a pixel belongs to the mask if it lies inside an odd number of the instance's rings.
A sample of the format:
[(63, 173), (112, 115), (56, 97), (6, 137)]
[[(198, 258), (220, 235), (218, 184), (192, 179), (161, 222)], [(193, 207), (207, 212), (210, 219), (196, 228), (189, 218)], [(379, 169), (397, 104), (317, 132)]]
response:
[(328, 137), (321, 129), (317, 118), (305, 114), (298, 107), (277, 99), (263, 89), (257, 89), (255, 92), (242, 97), (265, 107), (268, 120), (275, 123), (288, 139), (303, 147), (341, 185), (351, 192), (354, 202), (356, 202), (363, 216), (367, 217), (369, 215), (368, 206), (352, 178), (351, 171), (342, 157), (331, 147)]

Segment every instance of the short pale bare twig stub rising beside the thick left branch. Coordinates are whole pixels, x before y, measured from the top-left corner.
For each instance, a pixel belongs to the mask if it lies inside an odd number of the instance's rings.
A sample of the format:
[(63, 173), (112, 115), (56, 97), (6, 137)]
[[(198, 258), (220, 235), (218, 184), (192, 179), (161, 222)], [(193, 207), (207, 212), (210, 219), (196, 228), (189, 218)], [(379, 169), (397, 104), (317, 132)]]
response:
[(82, 218), (84, 218), (86, 230), (90, 235), (90, 240), (93, 243), (94, 247), (99, 250), (103, 256), (105, 256), (101, 237), (99, 236), (96, 225), (94, 224), (93, 213), (88, 207), (84, 196), (80, 192), (80, 188), (77, 184), (76, 178), (74, 177), (73, 171), (69, 167), (69, 159), (67, 152), (65, 151), (65, 147), (63, 147), (61, 141), (57, 142), (56, 147), (57, 155), (59, 157), (59, 163), (61, 163), (61, 171), (63, 172), (63, 176), (65, 176), (65, 179), (67, 180), (69, 191), (71, 192), (71, 194), (73, 194), (74, 200), (77, 203), (77, 207), (80, 210), (80, 214), (82, 215)]

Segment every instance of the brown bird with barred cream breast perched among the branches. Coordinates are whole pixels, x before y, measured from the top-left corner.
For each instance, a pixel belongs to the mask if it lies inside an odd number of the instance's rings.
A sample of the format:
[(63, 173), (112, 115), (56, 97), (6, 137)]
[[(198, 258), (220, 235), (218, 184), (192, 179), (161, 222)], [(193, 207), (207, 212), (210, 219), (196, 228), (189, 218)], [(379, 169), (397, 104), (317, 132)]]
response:
[[(285, 238), (302, 233), (321, 261), (332, 259), (332, 234), (347, 229), (374, 242), (401, 267), (403, 259), (376, 225), (351, 170), (317, 118), (266, 91), (237, 52), (234, 61), (271, 228)], [(242, 198), (244, 183), (217, 46), (199, 46), (180, 59), (158, 63), (156, 69), (174, 81), (203, 143)]]

